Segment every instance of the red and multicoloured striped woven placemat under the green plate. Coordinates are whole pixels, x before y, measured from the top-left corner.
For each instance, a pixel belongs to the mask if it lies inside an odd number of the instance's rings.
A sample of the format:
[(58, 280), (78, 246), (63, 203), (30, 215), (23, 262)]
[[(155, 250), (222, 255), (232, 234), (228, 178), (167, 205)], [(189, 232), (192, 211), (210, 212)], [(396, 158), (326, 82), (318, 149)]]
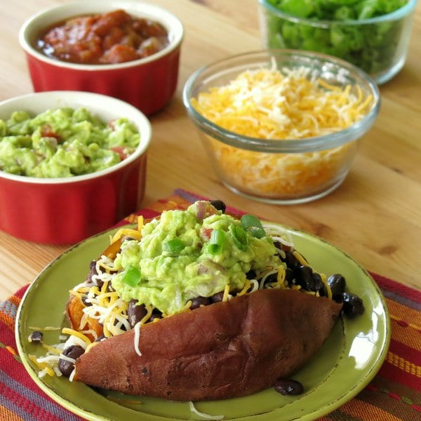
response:
[[(186, 208), (201, 196), (177, 189), (163, 199), (121, 221), (135, 222), (136, 215), (153, 218), (163, 210)], [(233, 213), (241, 213), (230, 208)], [(392, 340), (380, 371), (354, 399), (322, 417), (323, 421), (421, 420), (421, 292), (371, 274), (387, 301), (392, 319)], [(0, 420), (75, 421), (39, 389), (27, 374), (16, 351), (15, 316), (27, 286), (0, 303)]]

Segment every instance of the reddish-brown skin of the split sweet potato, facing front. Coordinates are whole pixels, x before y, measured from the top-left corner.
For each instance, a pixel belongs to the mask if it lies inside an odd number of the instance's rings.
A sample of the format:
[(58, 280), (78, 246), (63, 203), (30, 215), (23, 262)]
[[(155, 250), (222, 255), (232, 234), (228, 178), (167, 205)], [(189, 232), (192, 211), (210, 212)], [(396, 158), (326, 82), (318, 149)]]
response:
[(342, 305), (295, 290), (258, 290), (109, 338), (76, 360), (76, 380), (179, 401), (259, 392), (323, 345)]

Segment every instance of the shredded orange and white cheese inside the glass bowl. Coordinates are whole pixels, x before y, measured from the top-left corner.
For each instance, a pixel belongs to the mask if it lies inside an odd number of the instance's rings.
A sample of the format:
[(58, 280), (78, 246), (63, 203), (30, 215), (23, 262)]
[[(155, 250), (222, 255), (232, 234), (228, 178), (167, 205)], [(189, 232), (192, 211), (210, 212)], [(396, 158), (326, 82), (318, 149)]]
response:
[[(316, 79), (309, 69), (248, 70), (225, 86), (199, 93), (199, 114), (250, 138), (297, 140), (341, 131), (368, 112), (371, 96)], [(226, 145), (206, 135), (227, 182), (242, 192), (269, 197), (307, 194), (342, 171), (356, 142), (318, 152), (277, 154)]]

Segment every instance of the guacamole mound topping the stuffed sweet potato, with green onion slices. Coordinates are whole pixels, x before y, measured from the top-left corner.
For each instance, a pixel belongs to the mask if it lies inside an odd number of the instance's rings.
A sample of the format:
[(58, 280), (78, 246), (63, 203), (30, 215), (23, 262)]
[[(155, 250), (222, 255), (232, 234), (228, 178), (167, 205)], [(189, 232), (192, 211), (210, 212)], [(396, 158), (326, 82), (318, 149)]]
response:
[(226, 286), (242, 290), (250, 270), (284, 265), (262, 228), (256, 235), (207, 201), (168, 210), (141, 233), (140, 241), (124, 241), (116, 255), (114, 268), (121, 272), (112, 287), (123, 300), (152, 305), (167, 316)]

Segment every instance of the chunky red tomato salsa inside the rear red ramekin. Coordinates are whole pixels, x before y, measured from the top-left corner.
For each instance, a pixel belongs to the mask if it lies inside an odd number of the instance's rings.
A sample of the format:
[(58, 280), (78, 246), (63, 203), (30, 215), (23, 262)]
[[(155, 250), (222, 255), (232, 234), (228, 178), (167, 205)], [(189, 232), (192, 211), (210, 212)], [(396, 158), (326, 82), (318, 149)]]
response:
[(168, 42), (159, 22), (116, 10), (59, 22), (41, 34), (37, 47), (58, 60), (102, 65), (145, 58)]

